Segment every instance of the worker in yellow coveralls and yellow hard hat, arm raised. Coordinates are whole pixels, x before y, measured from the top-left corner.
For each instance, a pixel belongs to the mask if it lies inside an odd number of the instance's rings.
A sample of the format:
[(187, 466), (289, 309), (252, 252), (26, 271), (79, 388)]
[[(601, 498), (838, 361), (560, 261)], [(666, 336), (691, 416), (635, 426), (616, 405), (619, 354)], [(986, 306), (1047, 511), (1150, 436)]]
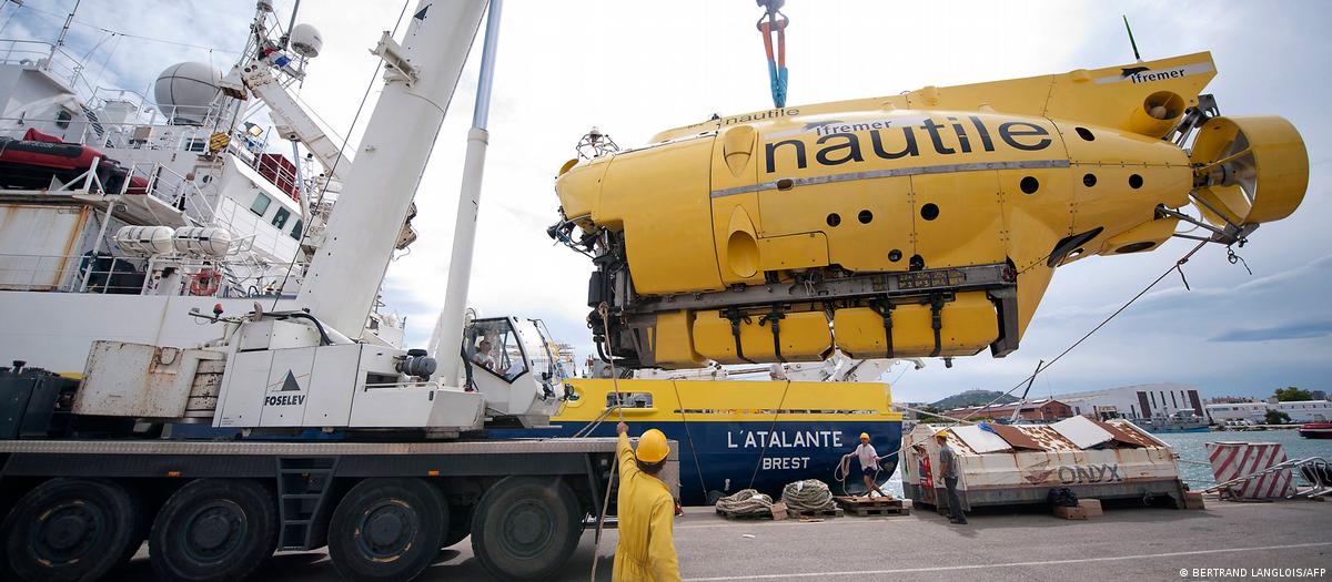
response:
[(618, 582), (678, 582), (675, 557), (675, 498), (657, 473), (666, 465), (670, 445), (666, 435), (650, 429), (638, 438), (638, 452), (629, 446), (629, 425), (619, 423), (619, 543), (615, 546)]

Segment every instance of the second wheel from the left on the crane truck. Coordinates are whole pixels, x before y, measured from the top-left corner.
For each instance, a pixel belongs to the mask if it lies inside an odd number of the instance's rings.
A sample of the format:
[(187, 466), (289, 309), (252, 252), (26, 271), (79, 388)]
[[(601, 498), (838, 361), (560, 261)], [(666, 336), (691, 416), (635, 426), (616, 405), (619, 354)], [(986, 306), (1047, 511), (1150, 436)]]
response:
[(166, 500), (148, 553), (161, 579), (234, 582), (273, 554), (273, 493), (250, 480), (201, 478)]

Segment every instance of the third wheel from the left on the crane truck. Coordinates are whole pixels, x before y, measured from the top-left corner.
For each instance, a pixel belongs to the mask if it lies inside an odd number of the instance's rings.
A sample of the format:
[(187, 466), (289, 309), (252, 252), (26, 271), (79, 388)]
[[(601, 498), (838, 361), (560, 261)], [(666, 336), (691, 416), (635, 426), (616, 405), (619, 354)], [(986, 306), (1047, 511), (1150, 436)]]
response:
[(329, 521), (329, 558), (348, 579), (406, 581), (440, 553), (449, 504), (420, 478), (356, 484)]

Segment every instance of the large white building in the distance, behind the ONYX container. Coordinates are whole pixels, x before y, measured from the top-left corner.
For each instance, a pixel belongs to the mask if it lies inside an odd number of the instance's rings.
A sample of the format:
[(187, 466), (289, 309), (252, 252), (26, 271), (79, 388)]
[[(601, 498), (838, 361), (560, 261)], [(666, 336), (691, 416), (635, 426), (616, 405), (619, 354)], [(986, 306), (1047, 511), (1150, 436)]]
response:
[(1188, 384), (1138, 384), (1056, 396), (1074, 415), (1100, 419), (1168, 417), (1184, 409), (1204, 413), (1197, 387)]

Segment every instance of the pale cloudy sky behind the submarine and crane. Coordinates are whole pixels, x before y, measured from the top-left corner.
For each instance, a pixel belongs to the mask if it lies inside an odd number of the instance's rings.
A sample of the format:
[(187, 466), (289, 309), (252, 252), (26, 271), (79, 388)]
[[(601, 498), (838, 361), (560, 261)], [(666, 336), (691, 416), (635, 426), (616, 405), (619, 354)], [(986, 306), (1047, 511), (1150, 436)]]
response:
[[(75, 0), (0, 0), (0, 37), (55, 40)], [(284, 19), (290, 0), (277, 0)], [(414, 4), (414, 0), (413, 0)], [(352, 142), (376, 57), (401, 0), (306, 0), (297, 21), (316, 25), (324, 52), (300, 97)], [(1320, 1), (895, 3), (790, 0), (785, 8), (789, 105), (896, 94), (1063, 73), (1134, 61), (1120, 16), (1143, 58), (1211, 50), (1207, 92), (1224, 114), (1280, 114), (1304, 136), (1309, 189), (1291, 218), (1264, 225), (1239, 250), (1252, 275), (1211, 246), (1038, 377), (1032, 393), (1144, 383), (1197, 385), (1204, 395), (1267, 396), (1275, 388), (1332, 389), (1332, 142), (1323, 97), (1332, 61), (1332, 5)], [(68, 48), (103, 86), (144, 90), (180, 61), (225, 69), (244, 45), (253, 5), (184, 0), (83, 0)], [(410, 12), (409, 12), (410, 13)], [(659, 130), (767, 109), (767, 69), (751, 0), (509, 0), (502, 16), (490, 147), (477, 230), (470, 303), (482, 315), (542, 318), (557, 339), (591, 353), (590, 262), (554, 246), (554, 175), (591, 126), (621, 146)], [(127, 27), (133, 27), (127, 29)], [(99, 28), (100, 27), (100, 28)], [(119, 31), (155, 40), (116, 36)], [(189, 47), (186, 47), (189, 45)], [(204, 48), (200, 48), (204, 47)], [(212, 48), (212, 49), (208, 49)], [(408, 344), (429, 339), (442, 307), (478, 47), (464, 72), (417, 191), (421, 233), (385, 280), (389, 306), (408, 318)], [(370, 100), (377, 94), (374, 84)], [(369, 112), (368, 104), (366, 112)], [(892, 368), (899, 401), (964, 389), (1007, 391), (1164, 272), (1192, 246), (1173, 241), (1127, 256), (1059, 268), (1022, 347)]]

